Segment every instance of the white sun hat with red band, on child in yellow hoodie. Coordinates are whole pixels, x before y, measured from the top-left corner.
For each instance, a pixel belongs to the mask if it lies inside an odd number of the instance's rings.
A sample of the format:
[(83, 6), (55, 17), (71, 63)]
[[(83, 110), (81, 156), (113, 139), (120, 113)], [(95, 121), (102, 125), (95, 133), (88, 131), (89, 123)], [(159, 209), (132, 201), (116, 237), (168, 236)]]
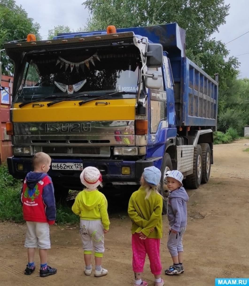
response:
[(81, 183), (90, 190), (94, 190), (102, 182), (102, 176), (95, 167), (86, 167), (80, 175)]

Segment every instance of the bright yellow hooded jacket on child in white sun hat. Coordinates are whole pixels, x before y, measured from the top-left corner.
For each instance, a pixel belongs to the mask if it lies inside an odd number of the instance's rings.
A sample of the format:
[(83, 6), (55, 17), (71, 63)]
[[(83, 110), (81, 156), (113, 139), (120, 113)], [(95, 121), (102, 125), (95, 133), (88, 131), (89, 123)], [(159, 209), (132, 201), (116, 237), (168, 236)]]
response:
[(72, 211), (81, 219), (101, 220), (104, 229), (108, 230), (110, 221), (107, 213), (107, 199), (98, 190), (83, 190), (77, 194)]

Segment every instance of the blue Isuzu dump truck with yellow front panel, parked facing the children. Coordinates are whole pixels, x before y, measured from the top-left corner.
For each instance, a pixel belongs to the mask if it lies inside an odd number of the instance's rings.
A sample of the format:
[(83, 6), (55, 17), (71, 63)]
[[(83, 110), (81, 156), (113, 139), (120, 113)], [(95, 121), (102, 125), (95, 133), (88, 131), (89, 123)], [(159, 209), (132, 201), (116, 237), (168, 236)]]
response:
[[(105, 186), (138, 185), (145, 167), (208, 182), (213, 163), (218, 83), (185, 56), (176, 23), (59, 34), (6, 43), (15, 62), (9, 172), (24, 178), (39, 151), (52, 158), (57, 195), (81, 189), (96, 166)], [(165, 211), (165, 208), (164, 208)]]

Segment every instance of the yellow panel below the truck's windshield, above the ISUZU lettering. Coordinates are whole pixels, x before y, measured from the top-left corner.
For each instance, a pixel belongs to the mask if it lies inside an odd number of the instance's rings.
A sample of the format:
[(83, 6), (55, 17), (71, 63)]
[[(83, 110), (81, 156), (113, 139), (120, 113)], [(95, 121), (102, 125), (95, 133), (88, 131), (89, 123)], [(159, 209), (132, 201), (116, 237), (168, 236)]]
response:
[(13, 122), (135, 120), (136, 99), (94, 100), (81, 106), (80, 101), (63, 101), (52, 106), (47, 106), (48, 102), (34, 102), (36, 105), (30, 103), (22, 108), (15, 103)]

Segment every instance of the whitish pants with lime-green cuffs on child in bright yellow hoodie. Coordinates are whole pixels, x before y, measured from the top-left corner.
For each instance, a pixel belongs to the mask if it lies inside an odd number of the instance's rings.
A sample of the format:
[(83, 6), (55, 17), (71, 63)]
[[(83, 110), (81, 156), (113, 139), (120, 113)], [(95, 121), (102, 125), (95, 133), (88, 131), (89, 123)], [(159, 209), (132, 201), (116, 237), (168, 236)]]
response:
[(101, 220), (89, 221), (81, 219), (80, 234), (84, 254), (91, 254), (94, 247), (95, 256), (103, 257), (105, 252), (104, 227)]

